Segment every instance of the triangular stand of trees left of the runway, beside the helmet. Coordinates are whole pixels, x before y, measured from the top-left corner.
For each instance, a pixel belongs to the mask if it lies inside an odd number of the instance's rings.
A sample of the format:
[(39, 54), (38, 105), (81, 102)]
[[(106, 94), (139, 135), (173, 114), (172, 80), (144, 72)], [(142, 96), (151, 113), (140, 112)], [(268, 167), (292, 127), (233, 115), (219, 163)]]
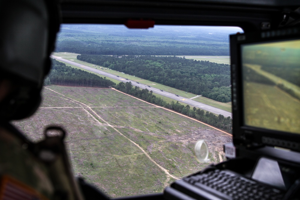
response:
[(111, 80), (97, 76), (80, 69), (75, 69), (66, 64), (52, 59), (52, 66), (49, 75), (44, 81), (44, 85), (63, 85), (108, 88), (116, 85)]

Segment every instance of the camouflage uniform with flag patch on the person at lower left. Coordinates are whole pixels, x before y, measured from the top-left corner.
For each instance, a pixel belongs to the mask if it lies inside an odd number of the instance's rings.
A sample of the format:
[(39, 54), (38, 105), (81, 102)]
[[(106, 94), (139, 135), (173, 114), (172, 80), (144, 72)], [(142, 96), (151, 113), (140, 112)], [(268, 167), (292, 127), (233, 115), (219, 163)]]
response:
[(1, 125), (0, 154), (0, 199), (83, 199), (60, 137), (33, 144)]

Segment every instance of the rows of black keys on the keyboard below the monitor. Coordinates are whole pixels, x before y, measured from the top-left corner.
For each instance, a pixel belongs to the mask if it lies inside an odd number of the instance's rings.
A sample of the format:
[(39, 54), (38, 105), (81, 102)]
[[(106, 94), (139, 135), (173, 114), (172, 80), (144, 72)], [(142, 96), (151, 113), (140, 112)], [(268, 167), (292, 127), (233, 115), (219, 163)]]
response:
[(225, 170), (217, 169), (193, 175), (183, 180), (199, 188), (199, 190), (205, 190), (220, 199), (226, 200), (279, 200), (284, 196), (284, 193), (280, 190)]

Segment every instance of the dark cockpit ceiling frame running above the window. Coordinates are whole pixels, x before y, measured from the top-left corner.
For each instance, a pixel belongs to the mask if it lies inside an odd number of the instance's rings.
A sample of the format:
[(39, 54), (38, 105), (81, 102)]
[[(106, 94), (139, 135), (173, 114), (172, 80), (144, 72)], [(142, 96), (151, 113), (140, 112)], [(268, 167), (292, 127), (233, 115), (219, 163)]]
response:
[(240, 26), (245, 31), (259, 30), (262, 24), (278, 28), (298, 7), (292, 0), (61, 0), (63, 23), (150, 19), (156, 25)]

